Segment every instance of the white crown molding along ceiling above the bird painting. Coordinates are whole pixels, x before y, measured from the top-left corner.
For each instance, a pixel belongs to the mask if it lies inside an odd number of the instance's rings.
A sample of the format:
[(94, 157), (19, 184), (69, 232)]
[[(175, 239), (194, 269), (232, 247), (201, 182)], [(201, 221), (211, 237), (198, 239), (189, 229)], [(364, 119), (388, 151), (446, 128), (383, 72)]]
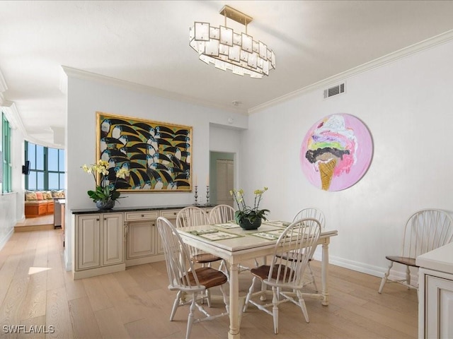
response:
[[(201, 105), (204, 107), (211, 107), (214, 109), (222, 109), (224, 111), (229, 111), (229, 112), (234, 112), (234, 113), (244, 114), (244, 115), (247, 115), (247, 113), (248, 113), (246, 109), (240, 109), (236, 106), (234, 108), (226, 107), (224, 105), (219, 105), (214, 102), (207, 101), (207, 100), (197, 100), (197, 99), (194, 99), (193, 97), (189, 97), (187, 95), (181, 95), (178, 93), (170, 92), (168, 90), (161, 90), (159, 88), (154, 88), (154, 87), (147, 86), (147, 85), (141, 85), (139, 83), (132, 83), (130, 81), (124, 81), (124, 80), (120, 80), (117, 78), (112, 78), (110, 76), (102, 76), (101, 74), (91, 73), (88, 71), (82, 71), (81, 69), (74, 69), (69, 66), (62, 66), (62, 69), (63, 69), (64, 73), (66, 73), (67, 76), (71, 76), (73, 78), (79, 78), (79, 79), (88, 80), (88, 81), (96, 81), (98, 83), (103, 83), (104, 85), (115, 85), (115, 86), (123, 88), (125, 90), (132, 90), (134, 92), (147, 93), (147, 94), (151, 94), (151, 95), (156, 95), (158, 97), (164, 97), (164, 98), (170, 99), (170, 100), (190, 103), (193, 105)], [(60, 86), (60, 88), (61, 88), (61, 86)]]

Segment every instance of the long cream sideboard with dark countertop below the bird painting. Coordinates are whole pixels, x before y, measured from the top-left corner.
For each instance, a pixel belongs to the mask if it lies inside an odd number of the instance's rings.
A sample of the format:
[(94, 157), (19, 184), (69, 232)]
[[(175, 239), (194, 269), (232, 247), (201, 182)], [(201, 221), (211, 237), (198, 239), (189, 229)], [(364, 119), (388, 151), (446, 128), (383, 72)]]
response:
[[(154, 208), (114, 208), (71, 210), (73, 239), (73, 278), (125, 270), (127, 266), (165, 260), (157, 218), (176, 226), (176, 215), (185, 206)], [(202, 207), (209, 215), (211, 207)]]

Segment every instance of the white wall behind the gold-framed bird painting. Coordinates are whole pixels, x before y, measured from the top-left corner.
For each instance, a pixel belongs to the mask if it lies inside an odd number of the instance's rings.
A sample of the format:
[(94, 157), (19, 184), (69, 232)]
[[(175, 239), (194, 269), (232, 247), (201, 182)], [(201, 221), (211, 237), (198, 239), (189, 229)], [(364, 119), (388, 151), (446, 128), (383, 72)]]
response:
[[(205, 182), (209, 172), (210, 124), (246, 128), (248, 117), (219, 109), (211, 109), (178, 102), (146, 93), (144, 90), (129, 90), (124, 86), (106, 84), (86, 77), (68, 76), (67, 107), (67, 215), (77, 208), (95, 208), (86, 191), (93, 189), (91, 175), (81, 166), (96, 161), (96, 112), (165, 121), (172, 124), (193, 126), (192, 164), (193, 174)], [(233, 118), (233, 124), (228, 119)], [(222, 137), (223, 138), (223, 137)], [(238, 146), (230, 151), (238, 153)], [(120, 207), (185, 205), (195, 201), (193, 192), (131, 193), (122, 194)], [(67, 222), (65, 261), (71, 267), (71, 225)]]

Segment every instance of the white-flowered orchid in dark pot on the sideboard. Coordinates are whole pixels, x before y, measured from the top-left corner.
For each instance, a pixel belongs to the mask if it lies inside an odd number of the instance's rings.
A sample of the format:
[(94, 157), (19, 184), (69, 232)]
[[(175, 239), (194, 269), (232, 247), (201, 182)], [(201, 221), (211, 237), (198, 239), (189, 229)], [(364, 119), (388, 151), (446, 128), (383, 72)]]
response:
[[(83, 165), (81, 168), (84, 169), (84, 172), (93, 174), (93, 179), (96, 183), (96, 191), (90, 190), (86, 193), (96, 203), (96, 207), (100, 210), (110, 210), (113, 208), (113, 206), (115, 206), (115, 201), (117, 201), (121, 195), (116, 189), (117, 179), (129, 177), (129, 169), (109, 168), (108, 162), (104, 160), (98, 160), (96, 164), (91, 164), (89, 166)], [(110, 182), (108, 179), (109, 177), (112, 177), (112, 171), (115, 172), (114, 182)]]

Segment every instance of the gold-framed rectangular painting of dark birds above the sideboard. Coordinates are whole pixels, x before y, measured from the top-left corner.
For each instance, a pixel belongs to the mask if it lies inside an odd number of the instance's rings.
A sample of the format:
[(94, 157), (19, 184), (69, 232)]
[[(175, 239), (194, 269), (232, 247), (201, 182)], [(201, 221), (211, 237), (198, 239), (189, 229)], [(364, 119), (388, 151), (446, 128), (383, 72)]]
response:
[[(192, 191), (192, 127), (96, 112), (96, 155), (118, 191)], [(117, 179), (118, 169), (130, 174)]]

